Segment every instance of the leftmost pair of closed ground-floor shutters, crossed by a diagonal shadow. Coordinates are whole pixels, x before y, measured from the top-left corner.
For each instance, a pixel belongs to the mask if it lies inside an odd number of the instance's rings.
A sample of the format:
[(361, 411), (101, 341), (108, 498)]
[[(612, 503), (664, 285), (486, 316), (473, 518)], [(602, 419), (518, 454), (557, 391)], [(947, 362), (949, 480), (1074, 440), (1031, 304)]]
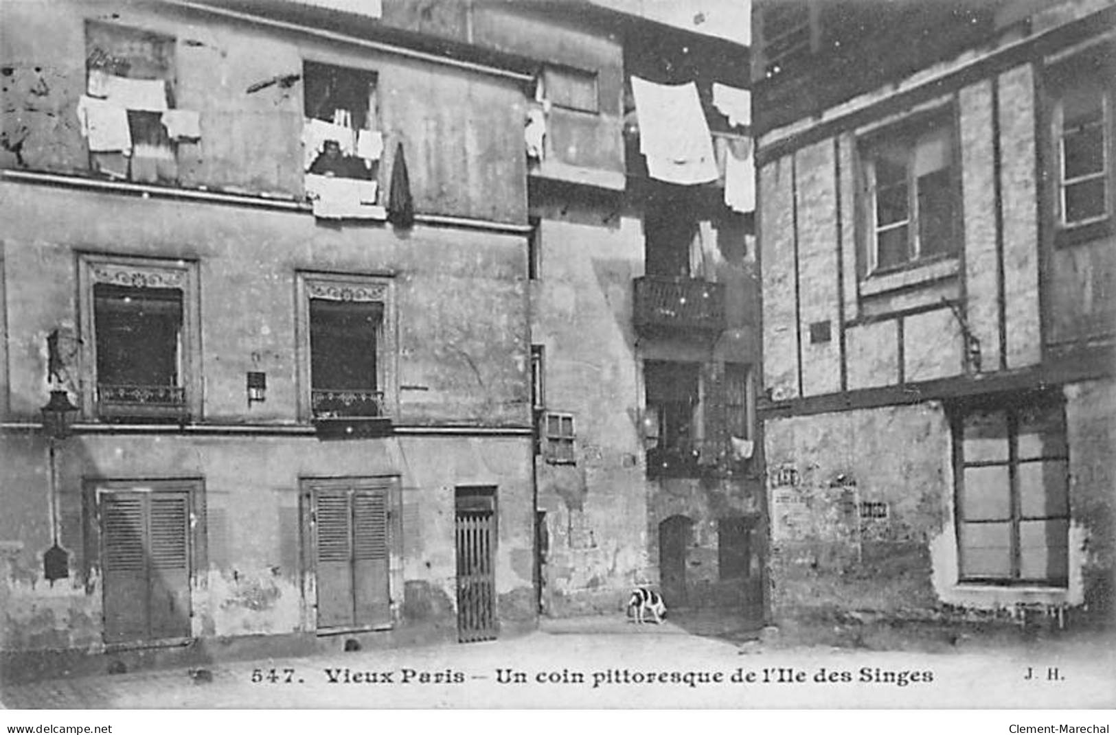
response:
[(106, 642), (190, 636), (190, 494), (100, 496)]

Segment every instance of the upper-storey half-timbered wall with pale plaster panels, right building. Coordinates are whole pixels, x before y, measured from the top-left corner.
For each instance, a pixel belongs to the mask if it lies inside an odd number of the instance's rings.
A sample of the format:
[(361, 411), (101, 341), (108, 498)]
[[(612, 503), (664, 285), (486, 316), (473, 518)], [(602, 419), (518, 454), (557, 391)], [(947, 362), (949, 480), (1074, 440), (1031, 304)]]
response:
[[(947, 103), (942, 97), (934, 104)], [(943, 300), (958, 302), (980, 341), (982, 373), (1001, 369), (1001, 357), (1008, 369), (1041, 359), (1032, 67), (962, 87), (953, 103), (963, 234), (955, 265), (939, 261), (901, 273), (867, 272), (855, 132), (760, 168), (763, 373), (773, 399), (797, 397), (799, 375), (805, 396), (838, 391), (841, 359), (849, 389), (964, 375), (963, 330)], [(1106, 244), (1052, 253), (1050, 341), (1096, 336), (1106, 319), (1110, 322), (1116, 269)], [(809, 327), (818, 321), (829, 321), (830, 341), (811, 341)]]

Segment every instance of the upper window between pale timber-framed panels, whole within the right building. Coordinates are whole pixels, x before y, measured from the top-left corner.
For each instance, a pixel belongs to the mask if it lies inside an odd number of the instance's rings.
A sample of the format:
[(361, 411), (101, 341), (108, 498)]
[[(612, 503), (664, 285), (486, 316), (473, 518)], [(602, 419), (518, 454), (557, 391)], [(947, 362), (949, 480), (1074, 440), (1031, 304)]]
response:
[(952, 116), (939, 112), (860, 144), (869, 272), (953, 257), (961, 249), (961, 191)]

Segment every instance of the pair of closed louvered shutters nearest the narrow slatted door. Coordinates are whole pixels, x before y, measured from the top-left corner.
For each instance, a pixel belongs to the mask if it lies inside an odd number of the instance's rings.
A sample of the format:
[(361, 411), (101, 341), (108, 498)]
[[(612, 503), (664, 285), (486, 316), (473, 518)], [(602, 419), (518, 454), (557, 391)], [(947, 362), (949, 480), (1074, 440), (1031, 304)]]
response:
[(312, 502), (318, 628), (391, 622), (388, 490), (331, 483)]

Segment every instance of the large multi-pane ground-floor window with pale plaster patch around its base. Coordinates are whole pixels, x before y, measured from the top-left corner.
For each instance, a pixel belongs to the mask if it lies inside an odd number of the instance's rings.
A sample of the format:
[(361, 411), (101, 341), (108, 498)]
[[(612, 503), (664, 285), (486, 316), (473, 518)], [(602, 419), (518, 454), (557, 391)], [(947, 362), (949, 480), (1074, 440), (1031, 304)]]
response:
[(961, 581), (1066, 587), (1069, 462), (1058, 396), (960, 409), (954, 461)]

